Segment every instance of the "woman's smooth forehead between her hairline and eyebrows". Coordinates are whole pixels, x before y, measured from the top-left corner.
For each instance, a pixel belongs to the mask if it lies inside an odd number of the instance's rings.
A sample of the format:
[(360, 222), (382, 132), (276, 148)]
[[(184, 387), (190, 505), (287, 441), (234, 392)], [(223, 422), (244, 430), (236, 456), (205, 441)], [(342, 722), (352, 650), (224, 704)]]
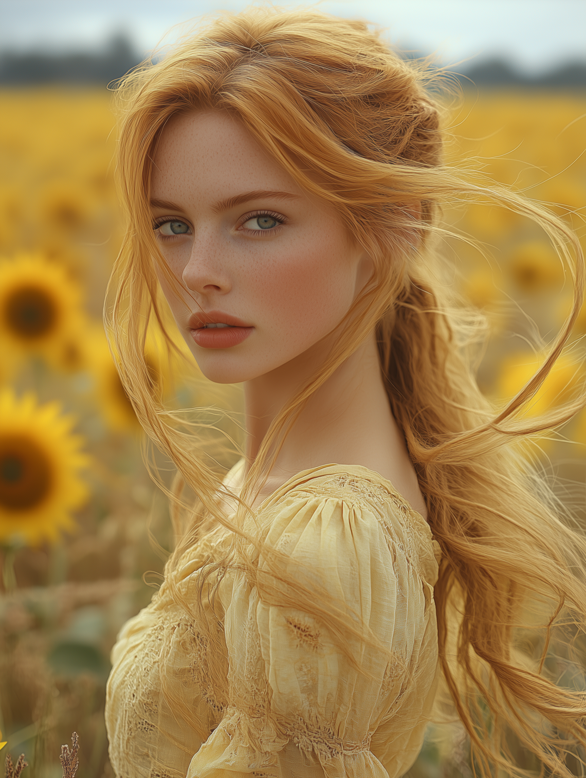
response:
[(244, 124), (223, 111), (194, 110), (172, 117), (153, 161), (154, 198), (230, 197), (243, 188), (303, 194)]

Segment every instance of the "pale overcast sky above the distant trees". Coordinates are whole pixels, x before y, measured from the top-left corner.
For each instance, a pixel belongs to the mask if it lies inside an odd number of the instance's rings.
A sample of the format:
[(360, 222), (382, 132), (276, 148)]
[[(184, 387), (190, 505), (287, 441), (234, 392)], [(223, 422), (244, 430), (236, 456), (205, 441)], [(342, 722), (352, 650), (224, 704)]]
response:
[[(0, 47), (96, 49), (124, 31), (146, 54), (177, 23), (247, 5), (245, 0), (0, 0)], [(573, 58), (586, 61), (586, 0), (323, 0), (320, 8), (381, 24), (392, 43), (436, 52), (444, 64), (502, 54), (536, 73)]]

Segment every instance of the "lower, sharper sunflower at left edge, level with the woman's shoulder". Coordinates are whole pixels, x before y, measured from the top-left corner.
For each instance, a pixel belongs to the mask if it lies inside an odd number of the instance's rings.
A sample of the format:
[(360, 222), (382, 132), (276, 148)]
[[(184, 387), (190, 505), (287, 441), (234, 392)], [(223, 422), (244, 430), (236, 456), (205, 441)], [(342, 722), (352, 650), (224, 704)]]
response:
[(57, 403), (0, 392), (0, 542), (37, 545), (74, 526), (71, 511), (88, 495), (79, 470), (89, 464)]

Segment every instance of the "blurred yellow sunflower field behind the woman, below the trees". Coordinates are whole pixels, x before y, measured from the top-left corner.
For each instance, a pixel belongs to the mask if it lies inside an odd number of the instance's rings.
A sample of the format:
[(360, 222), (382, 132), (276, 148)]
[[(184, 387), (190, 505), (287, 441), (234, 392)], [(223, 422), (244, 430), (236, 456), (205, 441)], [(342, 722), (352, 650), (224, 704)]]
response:
[[(552, 202), (584, 237), (585, 107), (581, 93), (465, 94), (448, 157), (474, 156), (497, 180)], [(111, 96), (4, 90), (0, 110), (0, 756), (24, 753), (23, 778), (60, 778), (61, 745), (75, 731), (79, 775), (107, 778), (110, 650), (153, 594), (172, 541), (101, 323), (122, 229)], [(520, 216), (469, 205), (446, 218), (473, 239), (447, 240), (446, 251), (454, 284), (490, 324), (479, 383), (503, 405), (542, 363), (570, 279)], [(584, 334), (586, 308), (532, 413), (584, 381)], [(153, 380), (177, 405), (240, 409), (237, 388), (215, 394), (175, 371), (156, 340), (146, 349)], [(535, 461), (584, 520), (586, 412), (539, 436)], [(472, 775), (466, 753), (457, 727), (432, 732), (410, 776)]]

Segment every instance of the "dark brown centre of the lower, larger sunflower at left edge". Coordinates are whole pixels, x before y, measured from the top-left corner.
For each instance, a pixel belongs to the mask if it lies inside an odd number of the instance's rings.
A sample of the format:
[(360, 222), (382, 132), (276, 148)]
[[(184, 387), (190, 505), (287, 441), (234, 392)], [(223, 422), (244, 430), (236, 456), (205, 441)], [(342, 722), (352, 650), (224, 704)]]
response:
[(25, 435), (0, 435), (0, 508), (29, 510), (51, 491), (51, 461)]

